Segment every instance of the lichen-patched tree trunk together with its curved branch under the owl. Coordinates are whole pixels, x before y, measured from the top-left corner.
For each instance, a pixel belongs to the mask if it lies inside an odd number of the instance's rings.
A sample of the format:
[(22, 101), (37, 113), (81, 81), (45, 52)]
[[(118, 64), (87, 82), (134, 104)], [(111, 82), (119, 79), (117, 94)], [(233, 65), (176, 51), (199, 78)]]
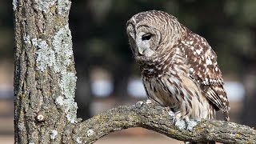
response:
[(80, 122), (74, 102), (70, 1), (14, 0), (13, 5), (15, 143), (92, 143), (137, 126), (182, 141), (256, 143), (256, 132), (248, 126), (202, 120), (186, 130), (184, 122), (174, 123), (173, 114), (153, 104), (119, 106)]

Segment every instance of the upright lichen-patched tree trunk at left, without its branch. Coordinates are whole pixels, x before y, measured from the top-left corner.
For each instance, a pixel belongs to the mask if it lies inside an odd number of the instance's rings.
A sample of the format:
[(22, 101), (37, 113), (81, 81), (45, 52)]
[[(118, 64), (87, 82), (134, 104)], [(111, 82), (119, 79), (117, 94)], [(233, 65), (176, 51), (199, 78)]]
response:
[(71, 2), (14, 0), (13, 5), (15, 143), (60, 143), (77, 122)]

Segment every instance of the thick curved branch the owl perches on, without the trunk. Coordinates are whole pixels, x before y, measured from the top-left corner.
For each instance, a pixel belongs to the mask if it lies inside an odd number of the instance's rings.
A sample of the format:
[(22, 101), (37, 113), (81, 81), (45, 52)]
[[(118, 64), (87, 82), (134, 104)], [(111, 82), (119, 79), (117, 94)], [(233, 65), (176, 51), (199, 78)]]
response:
[(143, 104), (142, 106), (118, 106), (105, 113), (79, 123), (74, 127), (73, 142), (92, 143), (113, 131), (130, 127), (143, 127), (181, 141), (203, 142), (206, 140), (223, 143), (256, 143), (256, 130), (234, 122), (198, 122), (190, 130), (179, 129), (166, 108)]

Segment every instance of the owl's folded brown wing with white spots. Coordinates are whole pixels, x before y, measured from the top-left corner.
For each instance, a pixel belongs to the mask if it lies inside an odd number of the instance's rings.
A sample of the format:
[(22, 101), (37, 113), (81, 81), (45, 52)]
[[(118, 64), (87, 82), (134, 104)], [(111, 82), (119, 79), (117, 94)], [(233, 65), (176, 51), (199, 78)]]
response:
[(181, 43), (187, 59), (190, 78), (202, 89), (202, 94), (222, 110), (228, 119), (229, 102), (223, 88), (222, 72), (218, 68), (217, 55), (205, 38), (190, 32)]

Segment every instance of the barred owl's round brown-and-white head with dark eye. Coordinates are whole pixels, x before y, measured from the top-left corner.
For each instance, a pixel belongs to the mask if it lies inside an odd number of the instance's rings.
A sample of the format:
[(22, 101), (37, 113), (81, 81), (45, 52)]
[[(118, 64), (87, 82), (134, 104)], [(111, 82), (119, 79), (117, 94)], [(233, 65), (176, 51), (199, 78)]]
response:
[(177, 18), (159, 10), (135, 14), (126, 26), (130, 48), (137, 61), (158, 56), (182, 36), (182, 26)]

